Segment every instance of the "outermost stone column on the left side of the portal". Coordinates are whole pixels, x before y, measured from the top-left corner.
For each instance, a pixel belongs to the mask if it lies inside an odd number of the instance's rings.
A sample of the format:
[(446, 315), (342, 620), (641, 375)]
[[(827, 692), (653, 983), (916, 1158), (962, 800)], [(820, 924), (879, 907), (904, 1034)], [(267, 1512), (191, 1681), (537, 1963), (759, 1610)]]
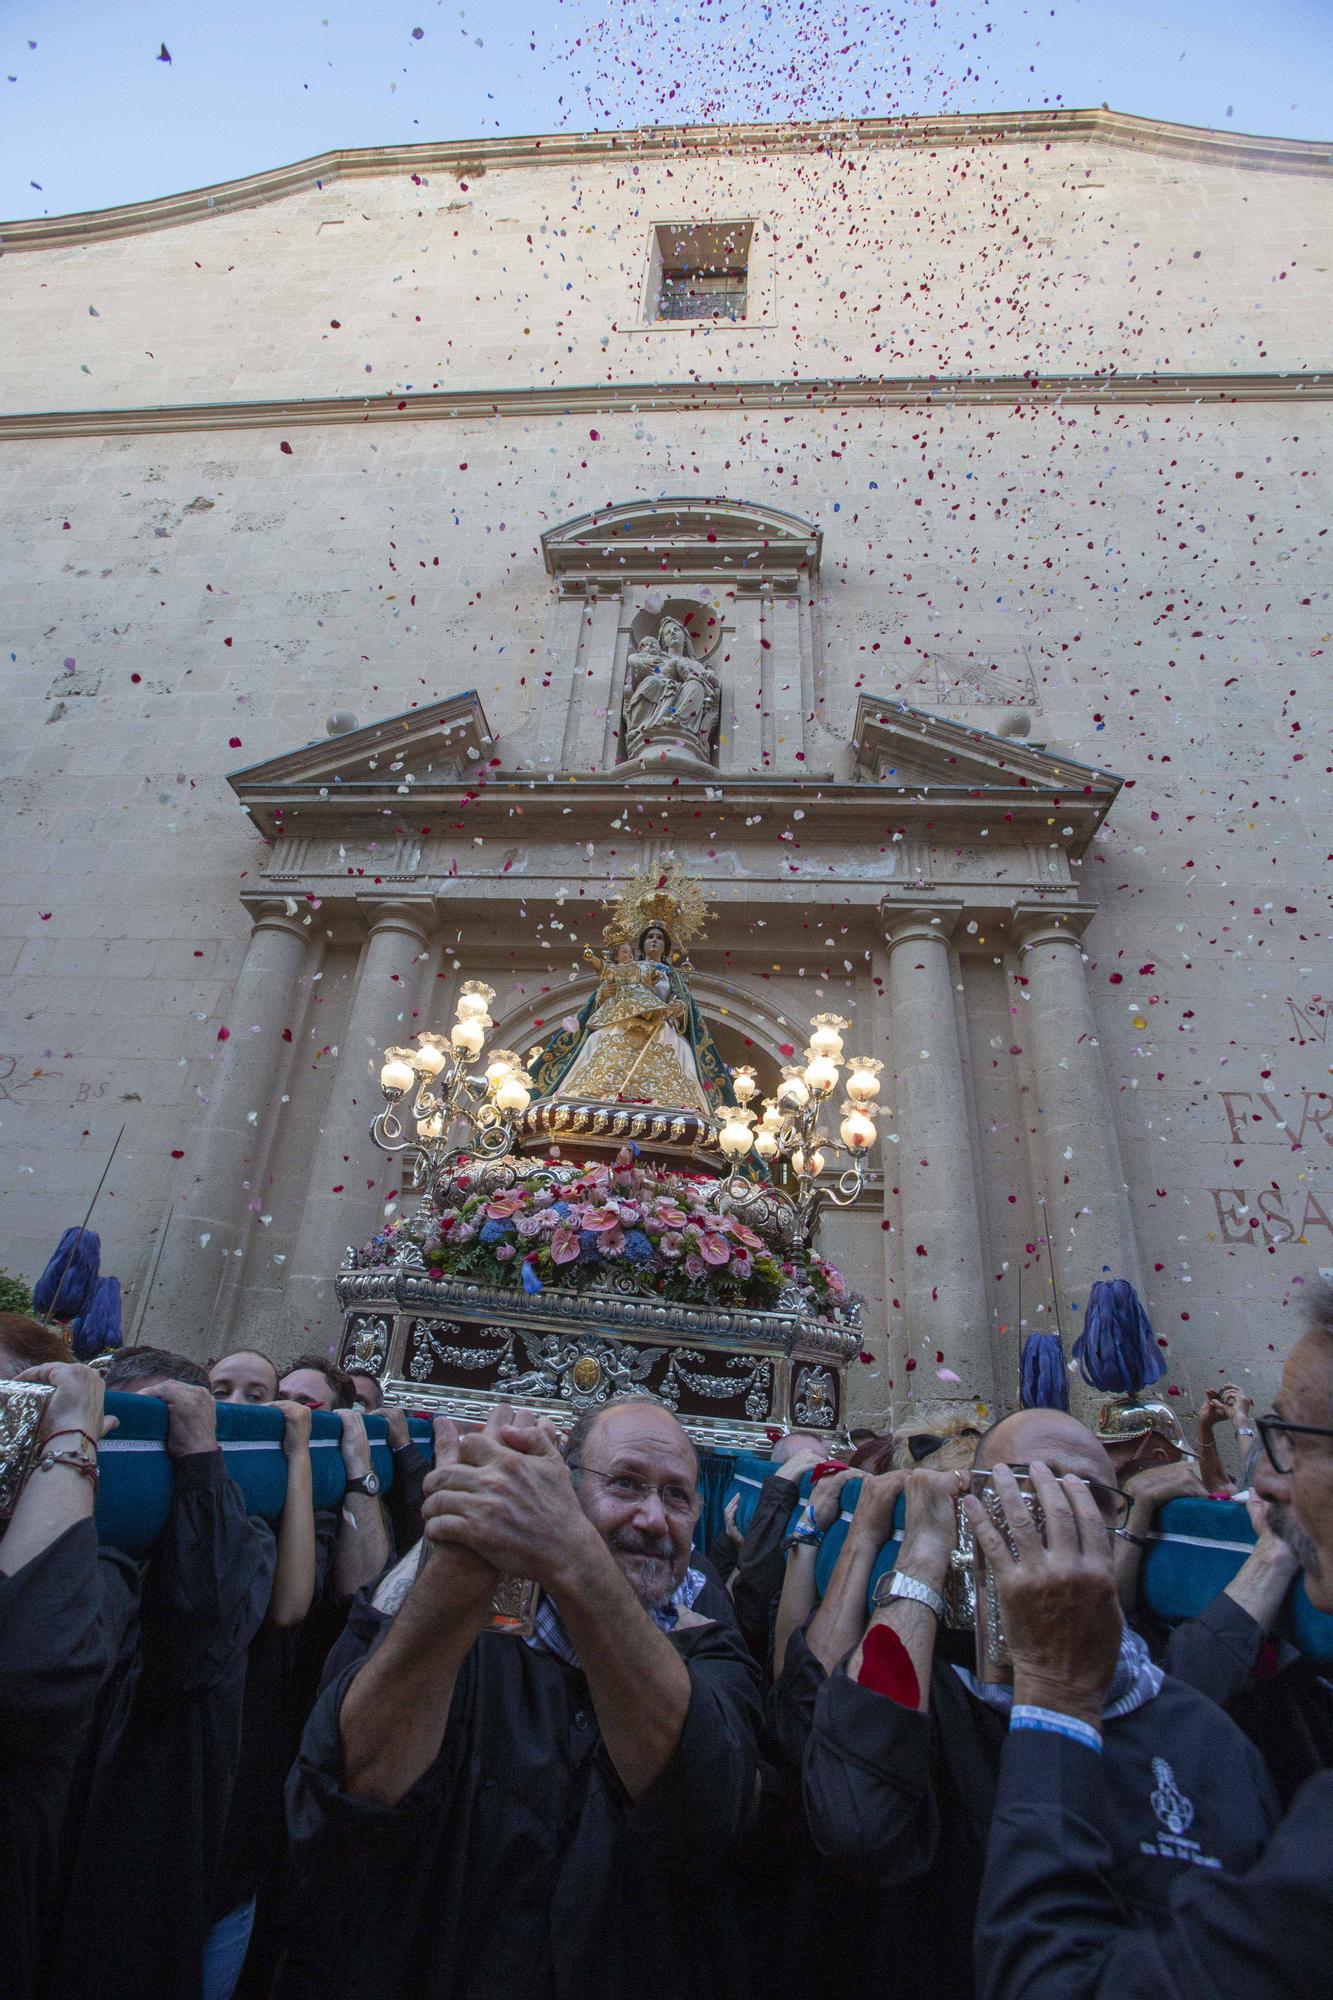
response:
[(226, 1008), (228, 1040), (204, 1116), (184, 1142), (186, 1164), (140, 1330), (148, 1346), (200, 1360), (220, 1352), (214, 1308), (226, 1260), (244, 1244), (288, 1046), (282, 1030), (294, 1028), (310, 938), (280, 900), (252, 904), (250, 918), (250, 946)]

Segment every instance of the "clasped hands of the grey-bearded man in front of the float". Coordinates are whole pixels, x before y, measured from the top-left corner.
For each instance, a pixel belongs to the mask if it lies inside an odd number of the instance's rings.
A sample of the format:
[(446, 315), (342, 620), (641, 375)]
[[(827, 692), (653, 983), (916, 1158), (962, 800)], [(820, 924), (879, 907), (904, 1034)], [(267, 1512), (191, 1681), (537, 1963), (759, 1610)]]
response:
[(502, 1576), (532, 1576), (554, 1594), (602, 1546), (552, 1424), (506, 1404), (466, 1434), (436, 1416), (422, 1522), (428, 1548), (448, 1552), (478, 1596)]

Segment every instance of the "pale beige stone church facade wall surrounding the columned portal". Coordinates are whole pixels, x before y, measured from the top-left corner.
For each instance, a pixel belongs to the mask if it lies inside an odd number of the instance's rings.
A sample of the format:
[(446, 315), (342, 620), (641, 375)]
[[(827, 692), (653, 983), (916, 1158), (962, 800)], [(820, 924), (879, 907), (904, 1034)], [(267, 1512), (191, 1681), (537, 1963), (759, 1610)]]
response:
[[(811, 160), (695, 164), (671, 182), (658, 162), (634, 188), (604, 166), (578, 186), (566, 168), (494, 172), (466, 192), (394, 178), (24, 252), (4, 260), (2, 402), (1327, 360), (1327, 278), (1309, 268), (1327, 264), (1327, 182), (1125, 148), (1053, 148), (1027, 164), (1015, 148), (869, 158), (847, 198), (839, 178), (851, 174)], [(630, 332), (646, 222), (719, 202), (767, 216), (781, 238), (775, 326)], [(881, 208), (893, 224), (871, 236)], [(837, 222), (817, 226), (829, 214)], [(867, 226), (855, 284), (849, 214)], [(993, 300), (1011, 292), (1021, 304), (1005, 314)], [(975, 312), (989, 338), (969, 356)], [(1127, 316), (1145, 326), (1133, 340)], [(729, 906), (701, 968), (763, 992), (799, 1028), (823, 1004), (883, 1038), (873, 908), (901, 880), (893, 810), (883, 848), (859, 860), (819, 816), (819, 774), (851, 776), (863, 690), (995, 728), (1005, 706), (969, 694), (999, 688), (1033, 710), (1035, 740), (1125, 774), (1077, 888), (1099, 910), (1087, 976), (1149, 1304), (1169, 1380), (1193, 1402), (1207, 1380), (1247, 1372), (1267, 1396), (1299, 1280), (1333, 1266), (1329, 404), (1273, 396), (614, 410), (0, 446), (0, 1264), (36, 1274), (124, 1122), (96, 1220), (134, 1312), (226, 1050), (218, 1032), (250, 1026), (228, 1002), (248, 932), (238, 894), (258, 884), (264, 848), (226, 772), (322, 736), (334, 708), (370, 722), (462, 688), (478, 690), (504, 766), (536, 766), (552, 616), (540, 532), (606, 500), (725, 494), (823, 528), (821, 670), (803, 822), (775, 822), (771, 854), (701, 840), (687, 856)], [(977, 662), (979, 684), (967, 678)], [(494, 976), (512, 1006), (542, 986), (558, 996), (590, 934), (574, 948), (558, 888), (594, 892), (636, 864), (644, 812), (630, 794), (620, 824), (598, 824), (570, 788), (570, 844), (546, 856), (518, 822), (504, 854), (480, 860), (458, 832), (464, 872), (484, 864), (530, 896), (510, 902), (502, 930), (444, 924), (420, 966), (416, 1026), (454, 958)], [(747, 914), (757, 876), (787, 908), (767, 930)], [(282, 1324), (360, 950), (342, 918), (310, 908), (300, 920), (314, 950), (228, 1274), (250, 1338)], [(1019, 1262), (1025, 1312), (1049, 1296), (1025, 1252), (1041, 1194), (1027, 998), (1003, 946), (973, 934), (961, 946), (1003, 1392)], [(889, 1140), (881, 1160), (891, 1190), (913, 1170)], [(827, 1248), (871, 1300), (877, 1358), (853, 1384), (863, 1414), (907, 1388), (885, 1332), (913, 1250), (895, 1200), (889, 1230), (873, 1210), (827, 1224)]]

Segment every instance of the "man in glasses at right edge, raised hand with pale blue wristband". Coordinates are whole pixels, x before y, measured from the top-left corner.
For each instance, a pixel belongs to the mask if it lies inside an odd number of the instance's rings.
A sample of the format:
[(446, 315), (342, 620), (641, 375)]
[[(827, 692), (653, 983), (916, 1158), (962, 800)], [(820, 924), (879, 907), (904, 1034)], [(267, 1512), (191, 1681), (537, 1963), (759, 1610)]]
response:
[[(1287, 1356), (1277, 1406), (1257, 1422), (1255, 1492), (1321, 1612), (1333, 1612), (1333, 1294), (1311, 1288), (1309, 1324)], [(1111, 1540), (1087, 1488), (1031, 1466), (1045, 1544), (1001, 1468), (1007, 1536), (965, 1500), (991, 1564), (1015, 1674), (1015, 1706), (977, 1910), (981, 2000), (1237, 1994), (1289, 2000), (1327, 1992), (1333, 1964), (1333, 1770), (1295, 1794), (1243, 1872), (1193, 1868), (1153, 1926), (1117, 1898), (1101, 1704), (1121, 1614)], [(1155, 1810), (1187, 1800), (1161, 1784)]]

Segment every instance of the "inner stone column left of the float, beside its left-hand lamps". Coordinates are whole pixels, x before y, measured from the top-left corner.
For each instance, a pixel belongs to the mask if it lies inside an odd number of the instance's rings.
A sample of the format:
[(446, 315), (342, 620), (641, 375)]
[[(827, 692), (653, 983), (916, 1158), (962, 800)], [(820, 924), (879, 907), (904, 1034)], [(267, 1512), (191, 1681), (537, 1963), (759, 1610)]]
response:
[(374, 1234), (398, 1174), (398, 1158), (370, 1138), (370, 1120), (384, 1102), (378, 1084), (384, 1048), (408, 1042), (422, 1026), (412, 1020), (412, 1006), (432, 922), (428, 896), (366, 904), (366, 946), (286, 1278), (286, 1332), (294, 1344), (332, 1346), (338, 1332), (332, 1280), (342, 1252)]

